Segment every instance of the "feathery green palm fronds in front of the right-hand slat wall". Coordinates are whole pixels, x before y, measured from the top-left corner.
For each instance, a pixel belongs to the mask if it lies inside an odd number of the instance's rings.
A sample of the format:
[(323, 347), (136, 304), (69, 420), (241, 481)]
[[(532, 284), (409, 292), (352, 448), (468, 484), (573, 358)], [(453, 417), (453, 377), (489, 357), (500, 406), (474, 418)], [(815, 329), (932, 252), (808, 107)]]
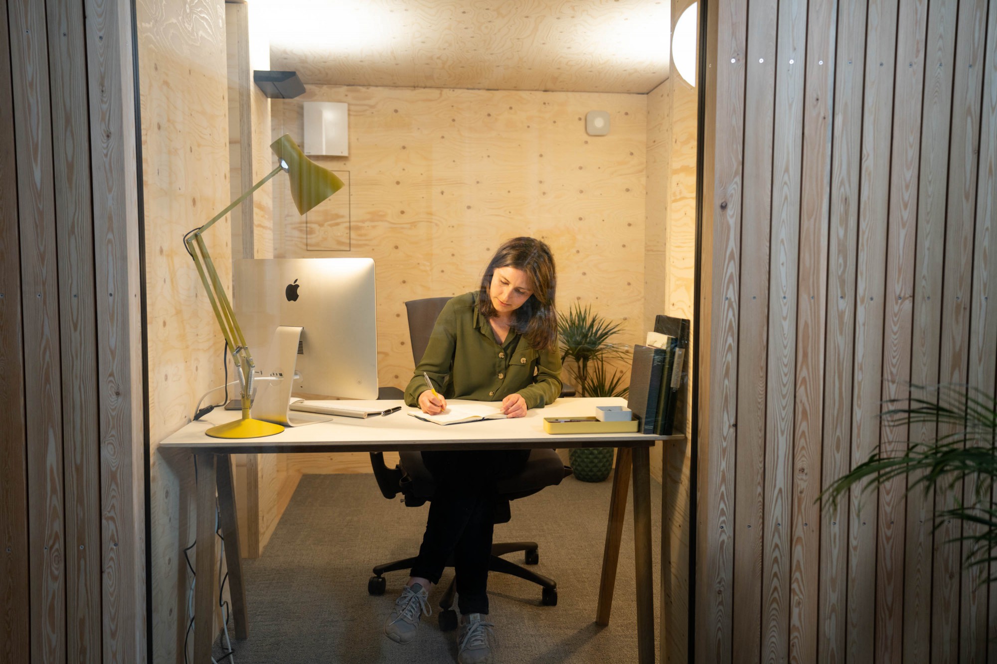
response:
[[(963, 480), (972, 480), (972, 502), (957, 499), (955, 507), (936, 512), (934, 527), (949, 518), (973, 524), (952, 541), (968, 544), (967, 566), (990, 569), (989, 563), (997, 561), (997, 507), (990, 498), (997, 478), (997, 399), (976, 388), (951, 384), (911, 386), (911, 394), (924, 396), (885, 402), (887, 409), (880, 415), (883, 424), (890, 428), (935, 425), (934, 440), (908, 442), (905, 449), (895, 452), (878, 448), (834, 481), (821, 498), (830, 498), (825, 506), (836, 505), (852, 489), (871, 491), (904, 476), (909, 476), (908, 494), (917, 489), (925, 494), (946, 492)], [(982, 583), (997, 580), (997, 573), (983, 576)]]

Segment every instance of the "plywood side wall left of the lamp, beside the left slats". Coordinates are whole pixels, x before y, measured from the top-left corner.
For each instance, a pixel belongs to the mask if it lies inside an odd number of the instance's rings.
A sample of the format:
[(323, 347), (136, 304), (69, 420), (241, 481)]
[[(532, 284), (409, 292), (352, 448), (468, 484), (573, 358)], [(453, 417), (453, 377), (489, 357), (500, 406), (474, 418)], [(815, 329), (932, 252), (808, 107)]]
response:
[[(137, 22), (149, 290), (154, 657), (172, 662), (183, 659), (189, 579), (182, 549), (194, 539), (194, 471), (189, 455), (167, 457), (157, 446), (189, 422), (201, 394), (223, 382), (224, 340), (181, 240), (230, 200), (224, 5), (221, 0), (140, 0)], [(229, 232), (224, 219), (205, 235), (228, 288)]]

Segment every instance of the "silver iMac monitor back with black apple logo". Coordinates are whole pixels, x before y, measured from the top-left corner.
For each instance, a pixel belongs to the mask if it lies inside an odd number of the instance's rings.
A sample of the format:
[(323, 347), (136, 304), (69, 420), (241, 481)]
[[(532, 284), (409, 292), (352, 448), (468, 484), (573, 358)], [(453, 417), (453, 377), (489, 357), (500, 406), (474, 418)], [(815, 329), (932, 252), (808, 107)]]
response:
[(257, 370), (267, 375), (277, 326), (301, 327), (293, 392), (377, 399), (373, 259), (234, 262), (233, 306)]

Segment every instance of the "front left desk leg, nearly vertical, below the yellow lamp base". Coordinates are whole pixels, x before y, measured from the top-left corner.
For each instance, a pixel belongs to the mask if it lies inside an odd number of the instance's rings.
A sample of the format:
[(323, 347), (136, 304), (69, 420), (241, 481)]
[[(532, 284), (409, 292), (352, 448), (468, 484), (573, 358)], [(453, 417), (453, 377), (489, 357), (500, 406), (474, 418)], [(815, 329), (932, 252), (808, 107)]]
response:
[(217, 579), (214, 570), (214, 455), (198, 452), (197, 464), (197, 551), (193, 589), (193, 661), (210, 664), (214, 641), (214, 599)]

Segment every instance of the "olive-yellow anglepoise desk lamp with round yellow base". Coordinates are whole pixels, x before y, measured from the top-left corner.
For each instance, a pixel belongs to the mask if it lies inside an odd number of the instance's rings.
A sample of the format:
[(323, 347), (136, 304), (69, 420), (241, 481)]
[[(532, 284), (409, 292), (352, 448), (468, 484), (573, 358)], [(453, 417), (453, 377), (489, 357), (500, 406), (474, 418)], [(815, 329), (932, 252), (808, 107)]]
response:
[(284, 431), (284, 428), (277, 424), (253, 420), (249, 417), (253, 370), (256, 365), (253, 363), (249, 348), (246, 347), (242, 330), (235, 320), (235, 312), (232, 310), (231, 302), (225, 295), (221, 279), (218, 278), (214, 263), (211, 262), (211, 256), (207, 252), (207, 246), (202, 237), (203, 232), (281, 170), (286, 171), (288, 177), (291, 178), (291, 197), (294, 199), (294, 206), (297, 207), (300, 214), (304, 214), (343, 187), (343, 180), (305, 157), (289, 135), (285, 134), (274, 141), (270, 150), (277, 155), (279, 166), (253, 184), (248, 191), (233, 200), (228, 207), (218, 212), (210, 221), (183, 236), (187, 253), (190, 254), (194, 265), (197, 266), (197, 274), (200, 275), (200, 281), (204, 284), (204, 290), (207, 291), (207, 299), (211, 303), (211, 309), (214, 310), (214, 317), (218, 319), (218, 326), (221, 328), (221, 333), (231, 351), (232, 361), (235, 363), (235, 376), (238, 379), (242, 398), (241, 419), (208, 429), (205, 433), (213, 438), (261, 438), (279, 434)]

